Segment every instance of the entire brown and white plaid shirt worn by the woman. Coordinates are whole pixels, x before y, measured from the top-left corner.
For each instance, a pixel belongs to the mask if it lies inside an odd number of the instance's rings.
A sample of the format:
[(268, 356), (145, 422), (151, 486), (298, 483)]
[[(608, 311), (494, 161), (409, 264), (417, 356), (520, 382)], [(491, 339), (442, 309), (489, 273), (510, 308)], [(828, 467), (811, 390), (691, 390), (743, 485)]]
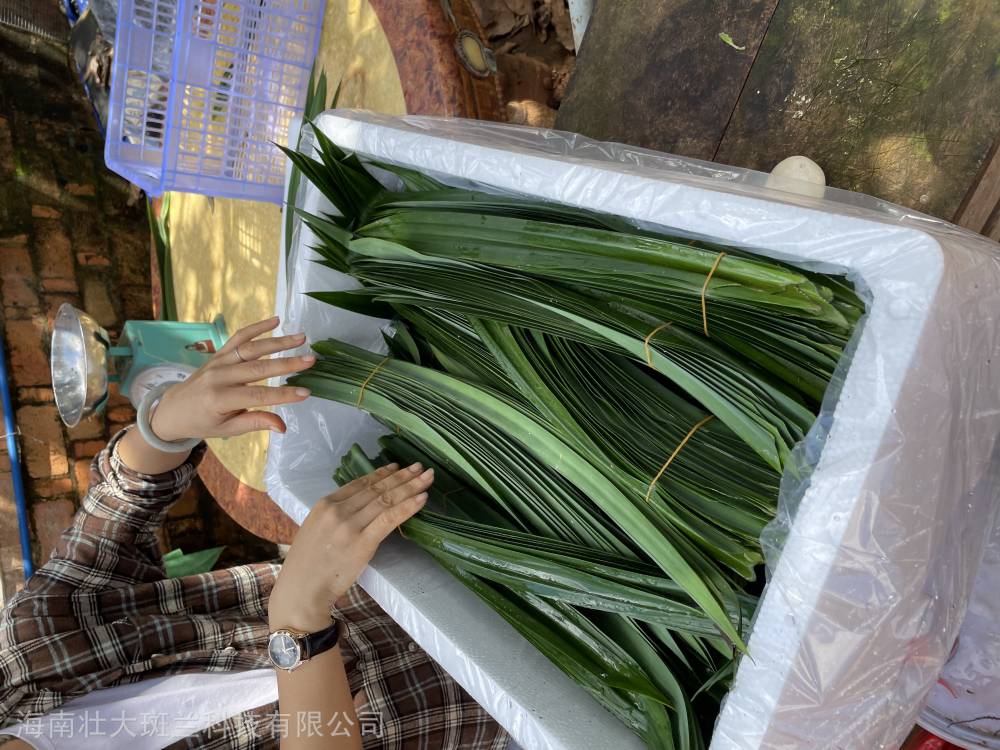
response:
[[(118, 433), (51, 559), (0, 610), (0, 726), (92, 690), (181, 672), (270, 667), (267, 598), (279, 566), (164, 578), (155, 532), (204, 446), (150, 476), (118, 456)], [(341, 652), (366, 750), (499, 750), (499, 725), (357, 586), (337, 602)], [(231, 717), (176, 748), (277, 748), (276, 705)]]

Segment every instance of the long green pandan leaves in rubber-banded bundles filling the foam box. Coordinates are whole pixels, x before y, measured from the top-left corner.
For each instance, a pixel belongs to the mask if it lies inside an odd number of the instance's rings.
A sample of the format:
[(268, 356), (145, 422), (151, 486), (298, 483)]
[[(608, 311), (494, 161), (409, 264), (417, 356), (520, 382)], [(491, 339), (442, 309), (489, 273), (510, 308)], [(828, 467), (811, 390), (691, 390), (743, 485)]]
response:
[(861, 301), (839, 277), (315, 137), (318, 159), (287, 153), (336, 210), (301, 219), (359, 286), (314, 296), (394, 321), (388, 355), (323, 341), (293, 380), (389, 428), (335, 478), (434, 466), (404, 536), (649, 747), (704, 748), (782, 469)]

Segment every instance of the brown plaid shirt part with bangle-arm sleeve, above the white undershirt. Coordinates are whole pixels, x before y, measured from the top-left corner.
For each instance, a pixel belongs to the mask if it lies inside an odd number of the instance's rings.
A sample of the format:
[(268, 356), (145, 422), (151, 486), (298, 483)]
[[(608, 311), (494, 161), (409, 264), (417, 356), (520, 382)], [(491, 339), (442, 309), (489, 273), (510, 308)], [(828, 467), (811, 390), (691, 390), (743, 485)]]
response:
[(90, 489), (51, 559), (0, 611), (4, 725), (145, 677), (269, 665), (265, 615), (278, 566), (164, 577), (155, 532), (204, 446), (151, 476), (118, 456), (124, 434), (94, 458)]

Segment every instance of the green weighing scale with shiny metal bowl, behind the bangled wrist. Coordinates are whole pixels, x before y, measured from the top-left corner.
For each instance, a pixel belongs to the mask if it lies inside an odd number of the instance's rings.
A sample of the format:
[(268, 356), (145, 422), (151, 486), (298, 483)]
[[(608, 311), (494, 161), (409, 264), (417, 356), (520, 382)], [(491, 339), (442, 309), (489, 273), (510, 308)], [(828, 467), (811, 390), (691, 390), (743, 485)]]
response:
[(225, 322), (130, 320), (112, 346), (108, 332), (70, 304), (52, 326), (52, 392), (67, 427), (100, 411), (110, 383), (137, 407), (142, 397), (165, 383), (187, 379), (225, 343)]

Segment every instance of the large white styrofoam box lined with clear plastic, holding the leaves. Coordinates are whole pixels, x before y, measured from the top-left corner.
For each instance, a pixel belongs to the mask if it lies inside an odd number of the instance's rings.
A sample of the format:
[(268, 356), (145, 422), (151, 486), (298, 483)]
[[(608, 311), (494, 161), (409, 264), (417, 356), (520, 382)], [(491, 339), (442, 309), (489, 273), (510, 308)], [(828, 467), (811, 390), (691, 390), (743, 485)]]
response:
[[(319, 126), (348, 150), (451, 184), (604, 211), (849, 274), (868, 315), (799, 454), (808, 480), (793, 483), (786, 472), (787, 539), (712, 748), (898, 746), (951, 650), (996, 514), (996, 245), (871, 199), (792, 196), (767, 189), (757, 173), (553, 131), (342, 111)], [(307, 208), (317, 200), (307, 191)], [(286, 329), (367, 337), (380, 348), (379, 321), (302, 297), (336, 282), (307, 260), (304, 235), (300, 227), (279, 282)], [(378, 434), (352, 408), (314, 401), (282, 409), (290, 430), (272, 439), (268, 455), (268, 489), (297, 520), (332, 488), (346, 448), (356, 440), (370, 448)], [(608, 717), (426, 562), (397, 540), (362, 585), (521, 744), (576, 750), (634, 740), (613, 721), (574, 733), (581, 717)], [(405, 574), (411, 564), (433, 581), (434, 596), (420, 576)], [(552, 680), (543, 694), (538, 670)], [(609, 734), (595, 734), (603, 729)]]

